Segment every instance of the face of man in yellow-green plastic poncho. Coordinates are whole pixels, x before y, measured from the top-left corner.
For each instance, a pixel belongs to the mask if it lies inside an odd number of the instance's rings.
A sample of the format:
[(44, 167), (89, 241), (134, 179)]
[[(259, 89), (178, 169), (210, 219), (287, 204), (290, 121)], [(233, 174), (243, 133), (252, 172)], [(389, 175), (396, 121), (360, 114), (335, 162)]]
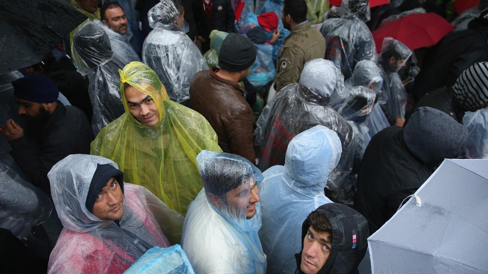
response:
[(153, 127), (159, 122), (159, 113), (154, 100), (143, 94), (135, 87), (125, 88), (125, 100), (130, 113), (147, 127)]

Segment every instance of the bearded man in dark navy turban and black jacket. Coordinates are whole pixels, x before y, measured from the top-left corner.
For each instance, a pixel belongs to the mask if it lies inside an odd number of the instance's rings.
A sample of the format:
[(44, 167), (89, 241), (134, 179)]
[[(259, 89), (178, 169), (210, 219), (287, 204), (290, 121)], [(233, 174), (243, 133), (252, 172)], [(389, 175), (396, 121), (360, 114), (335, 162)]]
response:
[(47, 173), (70, 154), (88, 154), (93, 133), (86, 115), (58, 101), (59, 90), (47, 77), (32, 74), (12, 82), (25, 131), (9, 119), (0, 133), (9, 142), (10, 155), (26, 179), (51, 196)]

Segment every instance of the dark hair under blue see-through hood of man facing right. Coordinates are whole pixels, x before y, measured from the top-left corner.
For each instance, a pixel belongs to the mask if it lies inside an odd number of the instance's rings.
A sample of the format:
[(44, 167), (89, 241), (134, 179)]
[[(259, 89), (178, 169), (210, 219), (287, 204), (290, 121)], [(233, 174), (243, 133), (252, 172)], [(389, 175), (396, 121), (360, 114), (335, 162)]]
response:
[(225, 193), (236, 189), (252, 177), (251, 169), (244, 163), (228, 158), (216, 158), (200, 170), (207, 194), (225, 200)]

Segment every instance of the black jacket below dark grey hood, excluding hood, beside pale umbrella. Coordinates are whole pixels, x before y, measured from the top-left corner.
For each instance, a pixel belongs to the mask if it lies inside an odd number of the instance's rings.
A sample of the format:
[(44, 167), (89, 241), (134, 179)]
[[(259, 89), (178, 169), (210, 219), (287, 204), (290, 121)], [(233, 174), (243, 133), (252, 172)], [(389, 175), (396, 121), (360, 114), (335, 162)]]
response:
[(377, 231), (430, 176), (431, 169), (411, 154), (403, 128), (387, 127), (371, 138), (359, 167), (356, 210), (369, 233)]

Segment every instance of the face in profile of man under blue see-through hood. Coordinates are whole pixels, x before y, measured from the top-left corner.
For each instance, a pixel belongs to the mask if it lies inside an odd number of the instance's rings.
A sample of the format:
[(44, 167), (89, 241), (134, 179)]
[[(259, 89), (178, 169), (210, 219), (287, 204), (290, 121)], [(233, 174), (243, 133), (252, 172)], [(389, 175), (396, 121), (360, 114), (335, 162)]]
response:
[[(245, 208), (246, 219), (250, 219), (256, 214), (256, 203), (259, 202), (259, 190), (256, 181), (253, 181), (250, 191), (247, 186), (248, 183), (244, 183), (241, 186), (227, 192), (225, 194), (225, 201), (227, 205), (236, 209), (237, 212), (239, 212), (240, 209)], [(247, 197), (248, 192), (249, 197)]]

